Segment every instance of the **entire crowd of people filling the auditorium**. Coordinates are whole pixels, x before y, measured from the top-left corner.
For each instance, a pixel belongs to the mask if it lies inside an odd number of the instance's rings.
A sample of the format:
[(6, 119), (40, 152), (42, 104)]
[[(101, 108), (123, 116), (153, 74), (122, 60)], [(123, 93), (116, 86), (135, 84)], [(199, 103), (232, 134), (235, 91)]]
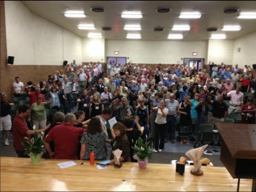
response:
[[(36, 84), (29, 81), (24, 86), (15, 77), (13, 96), (28, 96), (30, 107), (20, 106), (11, 122), (10, 106), (14, 104), (6, 100), (6, 93), (1, 93), (5, 145), (12, 128), (14, 148), (19, 157), (24, 157), (24, 147), (19, 142), (26, 135), (33, 135), (28, 127), (31, 121), (38, 133), (46, 132), (46, 158), (90, 159), (93, 151), (95, 159), (104, 160), (110, 144), (113, 150), (123, 151), (120, 162), (136, 161), (132, 146), (138, 137), (144, 142), (150, 140), (154, 152), (161, 152), (168, 140), (174, 144), (179, 138), (180, 144), (189, 144), (189, 137), (198, 134), (200, 124), (225, 122), (231, 113), (240, 114), (243, 123), (255, 123), (256, 75), (253, 77), (250, 66), (242, 71), (237, 64), (230, 69), (223, 63), (217, 66), (210, 62), (209, 73), (197, 67), (140, 67), (129, 63), (112, 66), (108, 62), (104, 73), (99, 62), (79, 66), (74, 60), (65, 71), (55, 71), (46, 81)], [(47, 125), (46, 107), (58, 111), (51, 125)], [(29, 117), (28, 121), (25, 117)], [(112, 117), (117, 122), (108, 129), (107, 122)]]

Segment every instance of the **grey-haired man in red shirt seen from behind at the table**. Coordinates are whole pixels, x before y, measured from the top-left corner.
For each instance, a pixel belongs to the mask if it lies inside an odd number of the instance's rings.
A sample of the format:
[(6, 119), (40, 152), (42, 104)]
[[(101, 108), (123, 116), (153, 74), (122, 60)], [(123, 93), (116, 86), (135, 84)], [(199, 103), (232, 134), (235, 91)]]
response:
[[(54, 126), (45, 136), (45, 149), (53, 159), (79, 159), (80, 139), (86, 129), (74, 127), (76, 116), (72, 113), (65, 115), (64, 123)], [(50, 147), (54, 143), (54, 152)]]

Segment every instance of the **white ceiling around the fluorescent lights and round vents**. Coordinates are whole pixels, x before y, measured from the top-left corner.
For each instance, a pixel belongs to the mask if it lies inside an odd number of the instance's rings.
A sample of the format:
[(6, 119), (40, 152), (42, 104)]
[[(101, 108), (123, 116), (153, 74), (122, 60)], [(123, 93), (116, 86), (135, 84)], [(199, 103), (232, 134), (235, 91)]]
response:
[[(140, 24), (141, 40), (168, 40), (170, 33), (182, 33), (183, 40), (209, 40), (211, 34), (226, 34), (227, 39), (236, 39), (256, 31), (256, 19), (238, 19), (242, 12), (256, 11), (256, 1), (22, 1), (31, 12), (61, 26), (81, 37), (90, 33), (101, 33), (106, 40), (127, 40), (126, 24)], [(100, 6), (105, 9), (95, 13), (90, 8)], [(158, 13), (159, 7), (169, 7), (169, 13)], [(239, 8), (236, 13), (223, 13), (225, 8)], [(127, 10), (141, 11), (143, 18), (121, 18)], [(63, 13), (70, 10), (84, 11), (85, 18), (67, 18)], [(181, 11), (200, 11), (201, 18), (179, 18)], [(95, 30), (81, 30), (79, 24), (94, 24)], [(173, 25), (188, 24), (190, 31), (172, 31)], [(240, 31), (221, 31), (224, 25), (239, 25)], [(102, 27), (111, 27), (111, 31), (102, 31)], [(156, 32), (154, 27), (163, 27)], [(207, 32), (207, 28), (217, 27), (216, 32)], [(129, 32), (132, 33), (132, 32)], [(134, 33), (134, 32), (133, 32)]]

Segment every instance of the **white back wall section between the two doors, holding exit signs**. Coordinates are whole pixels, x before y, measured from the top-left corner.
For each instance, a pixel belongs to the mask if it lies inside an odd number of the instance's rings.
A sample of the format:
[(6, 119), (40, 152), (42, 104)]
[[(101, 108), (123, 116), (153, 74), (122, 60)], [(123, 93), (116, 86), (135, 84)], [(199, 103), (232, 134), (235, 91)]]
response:
[[(119, 51), (115, 55), (115, 50)], [(198, 55), (193, 56), (192, 52)], [(132, 63), (182, 64), (181, 58), (205, 58), (207, 41), (106, 40), (106, 57), (129, 57)]]

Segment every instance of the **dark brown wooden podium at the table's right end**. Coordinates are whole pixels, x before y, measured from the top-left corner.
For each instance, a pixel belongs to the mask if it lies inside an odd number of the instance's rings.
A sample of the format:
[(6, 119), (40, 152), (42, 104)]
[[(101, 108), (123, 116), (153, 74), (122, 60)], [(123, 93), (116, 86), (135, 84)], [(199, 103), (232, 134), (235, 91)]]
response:
[(230, 175), (238, 179), (253, 179), (256, 191), (256, 124), (216, 123), (221, 142), (220, 160)]

